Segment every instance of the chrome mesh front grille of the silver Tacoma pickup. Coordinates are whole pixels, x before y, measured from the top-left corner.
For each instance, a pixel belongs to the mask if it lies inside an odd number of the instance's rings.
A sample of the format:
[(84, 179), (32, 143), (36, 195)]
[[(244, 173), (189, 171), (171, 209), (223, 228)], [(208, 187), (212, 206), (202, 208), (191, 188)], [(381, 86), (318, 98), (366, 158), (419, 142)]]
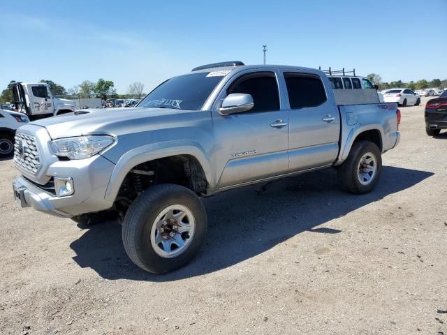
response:
[(27, 172), (36, 174), (41, 167), (36, 137), (24, 133), (15, 133), (14, 163)]

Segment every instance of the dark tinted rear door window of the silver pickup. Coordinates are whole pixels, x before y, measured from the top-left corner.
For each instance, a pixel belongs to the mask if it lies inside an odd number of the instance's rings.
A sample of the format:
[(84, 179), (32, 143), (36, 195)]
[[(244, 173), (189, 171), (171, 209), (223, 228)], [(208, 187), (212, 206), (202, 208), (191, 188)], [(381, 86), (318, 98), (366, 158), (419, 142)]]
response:
[(323, 82), (318, 75), (284, 73), (284, 77), (291, 109), (316, 107), (326, 101)]

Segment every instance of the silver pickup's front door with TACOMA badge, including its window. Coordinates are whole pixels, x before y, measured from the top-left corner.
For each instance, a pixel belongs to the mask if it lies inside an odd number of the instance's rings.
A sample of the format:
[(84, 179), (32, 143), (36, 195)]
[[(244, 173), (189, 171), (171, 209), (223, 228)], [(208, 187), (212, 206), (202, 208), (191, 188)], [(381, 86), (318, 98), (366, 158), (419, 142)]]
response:
[(251, 94), (254, 107), (230, 115), (213, 112), (217, 186), (286, 174), (288, 114), (281, 110), (278, 73), (247, 71), (230, 82), (225, 93)]

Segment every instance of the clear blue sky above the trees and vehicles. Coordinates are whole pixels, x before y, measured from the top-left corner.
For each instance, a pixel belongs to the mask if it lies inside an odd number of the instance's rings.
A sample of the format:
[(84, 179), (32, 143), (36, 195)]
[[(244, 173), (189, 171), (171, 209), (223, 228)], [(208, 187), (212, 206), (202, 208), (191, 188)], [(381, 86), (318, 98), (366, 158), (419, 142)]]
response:
[(268, 64), (447, 78), (447, 0), (1, 0), (0, 13), (0, 89), (103, 77), (149, 91), (201, 64), (261, 64), (263, 44)]

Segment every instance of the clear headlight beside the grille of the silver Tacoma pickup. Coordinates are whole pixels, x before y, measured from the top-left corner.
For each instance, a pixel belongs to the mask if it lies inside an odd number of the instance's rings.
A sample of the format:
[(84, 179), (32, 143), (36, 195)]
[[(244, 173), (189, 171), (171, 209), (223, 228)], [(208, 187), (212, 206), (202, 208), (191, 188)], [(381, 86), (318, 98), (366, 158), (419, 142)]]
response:
[(71, 159), (89, 158), (109, 147), (115, 138), (109, 135), (88, 135), (61, 138), (51, 142), (53, 154)]

